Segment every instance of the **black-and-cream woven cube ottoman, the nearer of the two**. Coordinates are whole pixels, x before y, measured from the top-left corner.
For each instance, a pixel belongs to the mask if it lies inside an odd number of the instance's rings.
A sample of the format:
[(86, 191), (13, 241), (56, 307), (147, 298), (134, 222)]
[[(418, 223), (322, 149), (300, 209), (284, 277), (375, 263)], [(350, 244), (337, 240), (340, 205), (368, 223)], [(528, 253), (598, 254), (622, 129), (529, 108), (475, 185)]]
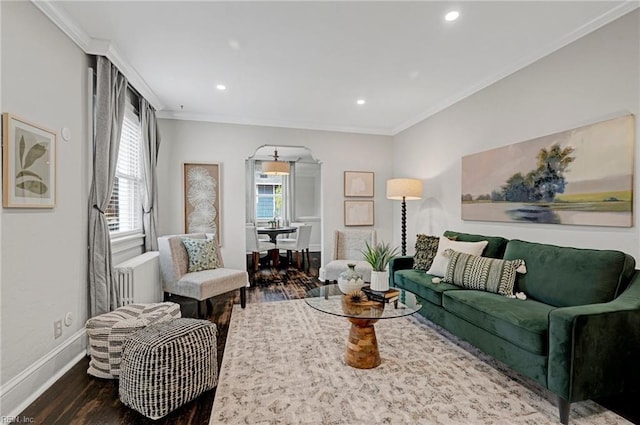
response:
[(120, 401), (159, 419), (218, 383), (216, 325), (177, 319), (146, 327), (122, 348)]

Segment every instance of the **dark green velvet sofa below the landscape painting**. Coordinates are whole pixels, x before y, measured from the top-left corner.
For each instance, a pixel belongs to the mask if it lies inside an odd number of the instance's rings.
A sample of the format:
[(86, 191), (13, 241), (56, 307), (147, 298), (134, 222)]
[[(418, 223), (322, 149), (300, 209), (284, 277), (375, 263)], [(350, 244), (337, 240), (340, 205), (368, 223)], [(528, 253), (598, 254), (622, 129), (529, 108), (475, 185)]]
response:
[(447, 231), (488, 241), (483, 256), (523, 259), (515, 291), (526, 300), (434, 283), (413, 257), (389, 264), (391, 286), (417, 294), (420, 313), (570, 404), (640, 387), (640, 273), (620, 251), (560, 247)]

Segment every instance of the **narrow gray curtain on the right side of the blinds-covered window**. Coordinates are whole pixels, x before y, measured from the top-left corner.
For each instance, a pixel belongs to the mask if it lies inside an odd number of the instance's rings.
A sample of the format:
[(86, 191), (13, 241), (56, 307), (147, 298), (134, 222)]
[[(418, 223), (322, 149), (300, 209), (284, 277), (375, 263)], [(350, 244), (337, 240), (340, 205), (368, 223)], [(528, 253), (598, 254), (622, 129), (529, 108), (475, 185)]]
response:
[(142, 170), (144, 191), (142, 193), (142, 230), (144, 232), (144, 250), (158, 250), (158, 149), (160, 133), (156, 121), (156, 111), (146, 99), (140, 96), (140, 129), (142, 134)]

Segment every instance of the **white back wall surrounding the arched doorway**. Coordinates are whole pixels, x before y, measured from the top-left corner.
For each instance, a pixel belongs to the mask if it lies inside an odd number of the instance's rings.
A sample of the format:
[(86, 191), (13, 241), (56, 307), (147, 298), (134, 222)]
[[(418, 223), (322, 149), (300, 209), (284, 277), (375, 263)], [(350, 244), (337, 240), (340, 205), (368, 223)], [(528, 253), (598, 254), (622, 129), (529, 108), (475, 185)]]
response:
[(391, 137), (177, 120), (159, 120), (159, 125), (160, 234), (183, 231), (182, 163), (221, 163), (222, 255), (225, 265), (244, 269), (244, 161), (258, 147), (270, 144), (306, 146), (322, 163), (323, 263), (331, 259), (333, 231), (344, 228), (345, 170), (375, 173), (374, 227), (379, 238), (391, 240), (394, 204), (385, 194), (385, 182), (391, 177)]

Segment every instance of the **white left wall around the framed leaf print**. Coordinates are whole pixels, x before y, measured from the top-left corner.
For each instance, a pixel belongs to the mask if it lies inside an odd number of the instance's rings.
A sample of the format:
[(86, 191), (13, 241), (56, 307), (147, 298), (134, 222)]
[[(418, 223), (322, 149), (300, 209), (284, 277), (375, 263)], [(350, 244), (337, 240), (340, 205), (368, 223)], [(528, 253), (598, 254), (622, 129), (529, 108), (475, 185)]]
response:
[[(1, 213), (0, 382), (7, 415), (84, 346), (88, 62), (31, 2), (0, 2), (0, 8), (2, 111), (58, 133), (71, 130), (69, 141), (58, 135), (56, 207)], [(67, 312), (74, 321), (54, 339), (53, 322)]]

